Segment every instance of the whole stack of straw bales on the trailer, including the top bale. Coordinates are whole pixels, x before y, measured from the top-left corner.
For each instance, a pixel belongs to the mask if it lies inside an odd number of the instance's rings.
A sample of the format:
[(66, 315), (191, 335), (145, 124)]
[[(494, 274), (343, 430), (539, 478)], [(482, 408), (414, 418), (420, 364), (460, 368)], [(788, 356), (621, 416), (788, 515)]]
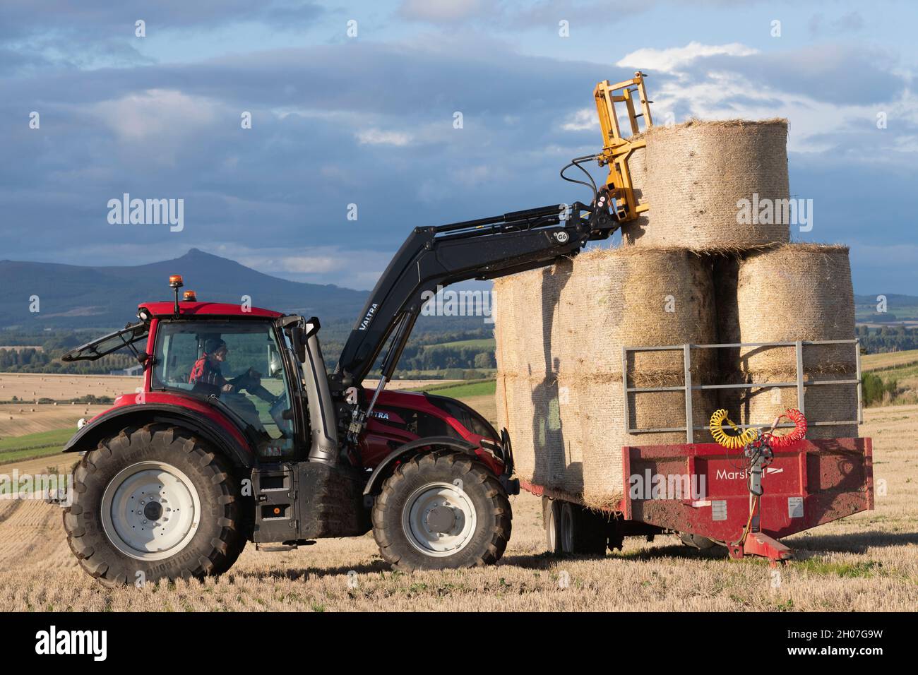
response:
[[(743, 223), (740, 200), (787, 203), (787, 122), (655, 127), (629, 160), (635, 196), (650, 210), (622, 230), (626, 245), (498, 279), (498, 422), (513, 439), (521, 478), (614, 507), (627, 487), (621, 448), (685, 443), (684, 432), (628, 433), (685, 424), (681, 352), (621, 347), (850, 339), (854, 307), (847, 250), (789, 244), (789, 224)], [(755, 197), (754, 197), (755, 196)], [(853, 377), (850, 344), (806, 347), (804, 377)], [(694, 384), (789, 382), (792, 348), (692, 350)], [(839, 377), (842, 376), (842, 377)], [(719, 392), (719, 393), (715, 393)], [(777, 391), (777, 393), (776, 393)], [(695, 425), (727, 407), (764, 424), (797, 406), (796, 388), (695, 392)], [(853, 420), (856, 390), (807, 388), (807, 417)], [(856, 435), (815, 427), (809, 437)], [(696, 442), (710, 441), (707, 432)]]

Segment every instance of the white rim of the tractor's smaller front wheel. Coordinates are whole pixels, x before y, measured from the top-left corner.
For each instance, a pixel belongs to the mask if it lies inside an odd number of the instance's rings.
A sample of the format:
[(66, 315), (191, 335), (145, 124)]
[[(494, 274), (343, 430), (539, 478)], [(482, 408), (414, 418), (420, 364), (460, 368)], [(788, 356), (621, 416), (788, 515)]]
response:
[[(452, 516), (445, 532), (431, 523), (434, 510), (441, 519)], [(411, 546), (431, 557), (453, 556), (472, 540), (477, 524), (475, 506), (463, 489), (450, 483), (428, 483), (414, 490), (402, 510), (402, 529)]]

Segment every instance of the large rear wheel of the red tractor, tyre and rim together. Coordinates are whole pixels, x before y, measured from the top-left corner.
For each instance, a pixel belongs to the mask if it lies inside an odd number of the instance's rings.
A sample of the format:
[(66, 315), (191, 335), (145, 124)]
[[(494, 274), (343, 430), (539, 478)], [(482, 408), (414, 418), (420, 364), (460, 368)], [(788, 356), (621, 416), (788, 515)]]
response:
[(67, 542), (109, 588), (220, 574), (245, 546), (238, 495), (227, 462), (191, 433), (124, 429), (74, 471)]

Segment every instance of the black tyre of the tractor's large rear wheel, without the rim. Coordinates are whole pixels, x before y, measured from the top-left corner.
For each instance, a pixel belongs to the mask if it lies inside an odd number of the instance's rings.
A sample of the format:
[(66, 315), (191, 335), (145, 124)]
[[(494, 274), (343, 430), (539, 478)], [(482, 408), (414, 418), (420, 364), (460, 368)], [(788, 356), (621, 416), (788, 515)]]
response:
[[(176, 546), (173, 556), (145, 559), (138, 551), (141, 557), (132, 557), (106, 533), (102, 517), (106, 488), (123, 470), (140, 463), (178, 469), (196, 492), (200, 504), (196, 531), (183, 546)], [(159, 499), (166, 503), (162, 495)], [(63, 524), (80, 567), (107, 588), (116, 588), (136, 584), (138, 579), (201, 579), (225, 572), (245, 547), (241, 515), (239, 483), (224, 456), (185, 429), (157, 423), (122, 429), (86, 453), (73, 472), (73, 503), (63, 513)], [(120, 546), (129, 547), (124, 540)]]

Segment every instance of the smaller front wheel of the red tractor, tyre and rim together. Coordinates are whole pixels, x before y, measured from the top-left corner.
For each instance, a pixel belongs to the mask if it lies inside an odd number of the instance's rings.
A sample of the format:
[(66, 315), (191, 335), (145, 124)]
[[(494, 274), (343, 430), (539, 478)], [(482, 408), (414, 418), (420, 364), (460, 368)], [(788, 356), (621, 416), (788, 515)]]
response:
[(507, 548), (507, 492), (484, 465), (451, 451), (414, 456), (383, 483), (373, 535), (394, 568), (470, 568)]

